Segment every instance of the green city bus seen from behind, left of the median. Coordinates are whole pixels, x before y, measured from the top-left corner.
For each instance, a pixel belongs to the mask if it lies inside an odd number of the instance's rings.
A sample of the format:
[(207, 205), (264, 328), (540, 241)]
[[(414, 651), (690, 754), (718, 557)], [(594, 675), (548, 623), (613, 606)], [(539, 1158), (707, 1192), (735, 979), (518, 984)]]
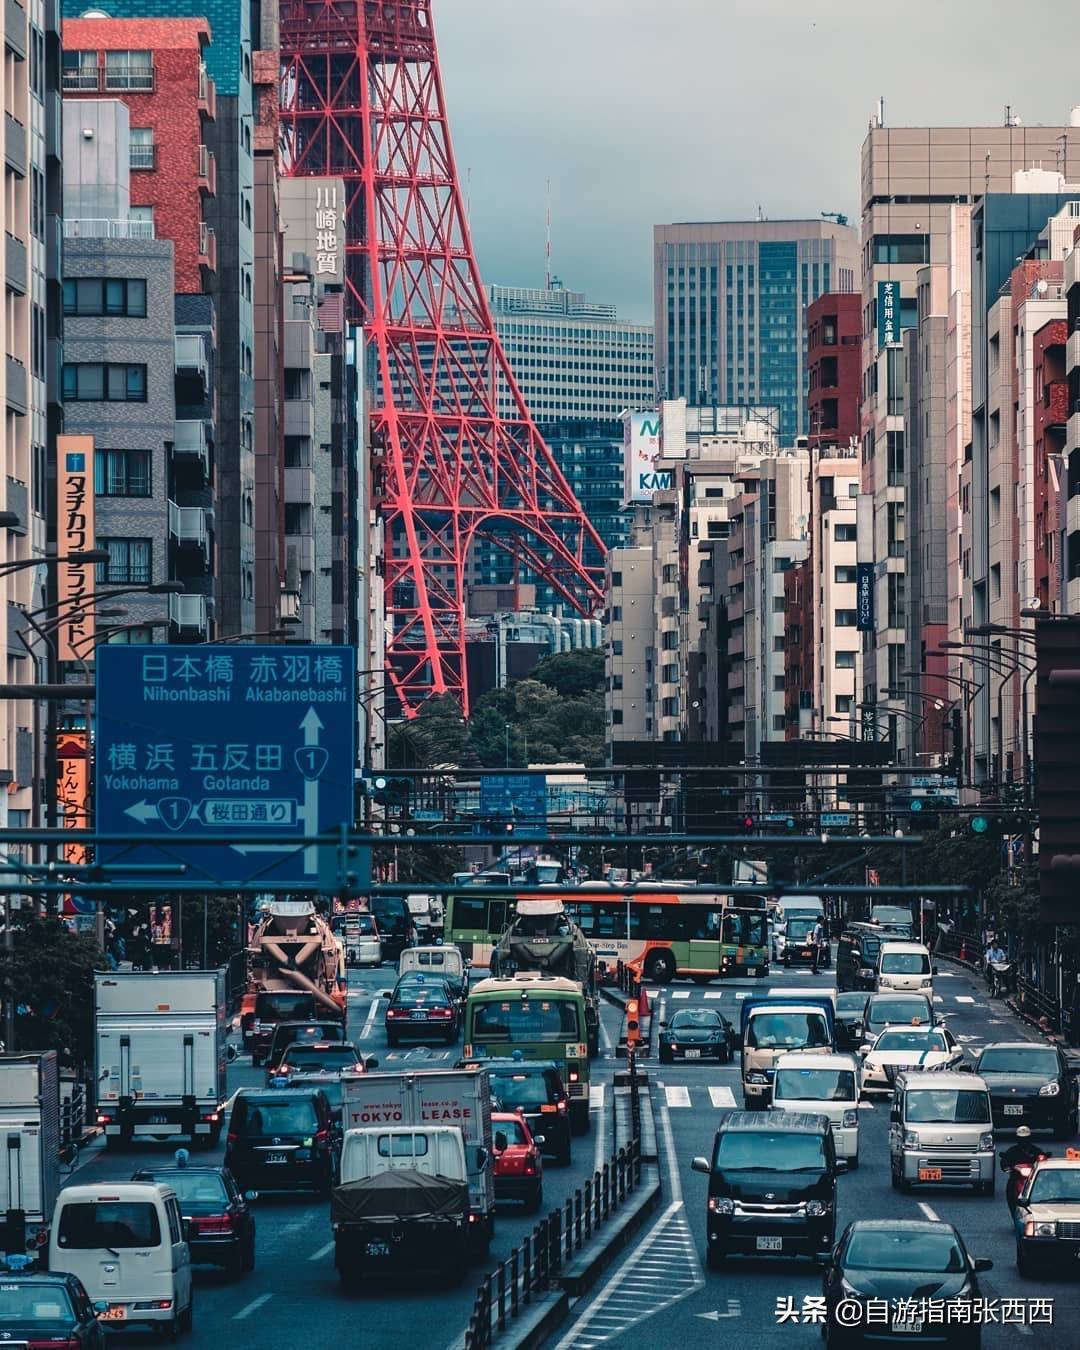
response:
[(580, 984), (522, 971), (506, 980), (481, 980), (464, 1010), (466, 1060), (554, 1060), (570, 1098), (575, 1134), (589, 1130), (589, 1029)]

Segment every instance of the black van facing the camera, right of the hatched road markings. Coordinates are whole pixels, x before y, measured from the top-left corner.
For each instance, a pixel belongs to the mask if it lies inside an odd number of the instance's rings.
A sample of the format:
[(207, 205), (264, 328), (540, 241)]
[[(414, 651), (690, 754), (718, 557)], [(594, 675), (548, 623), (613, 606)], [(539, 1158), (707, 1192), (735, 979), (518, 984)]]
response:
[(694, 1158), (709, 1177), (709, 1268), (728, 1256), (828, 1261), (836, 1238), (837, 1162), (824, 1115), (732, 1111), (711, 1158)]

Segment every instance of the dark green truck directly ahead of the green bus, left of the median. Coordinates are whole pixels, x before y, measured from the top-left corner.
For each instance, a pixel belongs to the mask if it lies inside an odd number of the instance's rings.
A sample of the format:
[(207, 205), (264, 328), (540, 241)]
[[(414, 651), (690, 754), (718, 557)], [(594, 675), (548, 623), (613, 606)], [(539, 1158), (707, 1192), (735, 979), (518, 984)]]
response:
[(560, 899), (554, 895), (518, 899), (510, 926), (491, 952), (490, 969), (494, 979), (509, 979), (518, 971), (537, 971), (580, 984), (589, 1053), (595, 1056), (599, 1052), (597, 957)]

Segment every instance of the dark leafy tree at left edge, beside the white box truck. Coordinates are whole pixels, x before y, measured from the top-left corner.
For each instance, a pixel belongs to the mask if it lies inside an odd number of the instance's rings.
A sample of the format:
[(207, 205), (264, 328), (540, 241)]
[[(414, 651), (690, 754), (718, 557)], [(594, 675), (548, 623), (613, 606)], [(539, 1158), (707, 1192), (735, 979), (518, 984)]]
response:
[(14, 953), (0, 948), (0, 990), (15, 996), (15, 1049), (58, 1050), (66, 1064), (93, 1058), (93, 972), (104, 957), (92, 937), (59, 919), (12, 915)]

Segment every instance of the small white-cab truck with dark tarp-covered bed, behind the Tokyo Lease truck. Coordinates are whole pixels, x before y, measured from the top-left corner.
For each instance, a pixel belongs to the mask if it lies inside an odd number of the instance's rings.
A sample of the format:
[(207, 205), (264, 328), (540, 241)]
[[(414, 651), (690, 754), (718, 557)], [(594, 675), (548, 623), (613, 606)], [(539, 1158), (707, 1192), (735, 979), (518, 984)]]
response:
[(364, 1276), (437, 1270), (456, 1284), (470, 1251), (470, 1162), (460, 1126), (347, 1130), (331, 1193), (333, 1264), (344, 1288)]

